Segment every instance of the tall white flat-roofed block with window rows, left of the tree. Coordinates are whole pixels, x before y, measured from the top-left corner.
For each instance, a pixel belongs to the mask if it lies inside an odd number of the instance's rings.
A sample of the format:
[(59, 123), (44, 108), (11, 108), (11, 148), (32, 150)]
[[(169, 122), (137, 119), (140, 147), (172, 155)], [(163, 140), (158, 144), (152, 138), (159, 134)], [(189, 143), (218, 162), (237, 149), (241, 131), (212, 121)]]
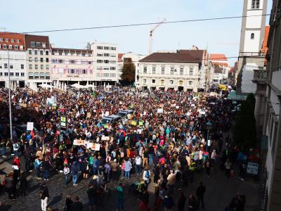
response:
[(100, 84), (116, 84), (118, 75), (117, 44), (91, 42), (93, 51), (93, 73)]

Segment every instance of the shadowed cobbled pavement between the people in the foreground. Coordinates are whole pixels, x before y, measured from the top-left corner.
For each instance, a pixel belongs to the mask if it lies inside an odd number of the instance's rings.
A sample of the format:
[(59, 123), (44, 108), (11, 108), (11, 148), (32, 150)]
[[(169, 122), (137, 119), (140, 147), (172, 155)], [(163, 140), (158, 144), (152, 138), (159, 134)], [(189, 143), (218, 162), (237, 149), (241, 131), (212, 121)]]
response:
[[(0, 170), (8, 171), (11, 167), (11, 159), (6, 161), (0, 159), (0, 163)], [(26, 197), (18, 197), (17, 200), (8, 200), (7, 194), (1, 193), (0, 201), (4, 202), (5, 204), (4, 208), (1, 210), (18, 211), (41, 209), (41, 200), (38, 198), (39, 184), (41, 181), (33, 179), (33, 175), (34, 172), (32, 172), (31, 176), (28, 177), (28, 179), (30, 179), (30, 186), (28, 188), (28, 194)], [(122, 179), (122, 182), (125, 184), (124, 207), (126, 210), (139, 210), (136, 196), (133, 196), (131, 193), (129, 193), (129, 185), (137, 180), (138, 177), (136, 177), (136, 175), (133, 175), (129, 180)], [(254, 181), (251, 179), (247, 181), (241, 181), (237, 177), (237, 171), (235, 171), (235, 177), (228, 179), (224, 176), (224, 172), (222, 170), (213, 169), (211, 170), (211, 177), (208, 179), (204, 170), (202, 170), (202, 172), (195, 174), (195, 181), (192, 184), (189, 184), (188, 188), (183, 188), (181, 191), (183, 191), (185, 196), (189, 196), (190, 193), (195, 193), (200, 181), (203, 181), (207, 187), (204, 198), (205, 210), (207, 211), (224, 210), (231, 198), (233, 198), (238, 191), (242, 192), (246, 196), (247, 203), (245, 210), (253, 211), (257, 208), (258, 184), (254, 183)], [(65, 186), (63, 174), (55, 174), (49, 181), (46, 182), (51, 195), (49, 205), (53, 208), (60, 208), (60, 210), (62, 210), (65, 205), (65, 198), (67, 195), (72, 197), (79, 196), (81, 202), (84, 203), (84, 210), (89, 210), (88, 200), (86, 197), (86, 188), (88, 183), (89, 179), (86, 179), (80, 181), (78, 186), (72, 186), (72, 184)], [(116, 186), (117, 183), (110, 184), (110, 188), (112, 190), (114, 190)], [(173, 198), (175, 200), (175, 204), (177, 203), (178, 196), (181, 193), (181, 191), (178, 191), (179, 186), (181, 186), (181, 184), (177, 184), (174, 191)], [(151, 206), (154, 201), (153, 184), (150, 184), (148, 191), (150, 193)], [(115, 191), (105, 194), (105, 196), (102, 198), (102, 201), (98, 205), (97, 210), (116, 210), (115, 199)], [(174, 210), (176, 210), (176, 207), (174, 207)]]

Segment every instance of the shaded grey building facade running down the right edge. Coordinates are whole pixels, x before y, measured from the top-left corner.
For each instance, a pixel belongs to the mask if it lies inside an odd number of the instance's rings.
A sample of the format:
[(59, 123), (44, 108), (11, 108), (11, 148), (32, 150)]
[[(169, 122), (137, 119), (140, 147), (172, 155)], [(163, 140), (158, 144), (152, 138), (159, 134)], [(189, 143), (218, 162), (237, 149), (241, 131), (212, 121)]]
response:
[[(270, 16), (266, 70), (256, 70), (259, 94), (256, 116), (261, 116), (260, 210), (281, 210), (281, 1), (274, 0)], [(265, 91), (264, 91), (265, 89)], [(265, 96), (262, 94), (265, 93)]]

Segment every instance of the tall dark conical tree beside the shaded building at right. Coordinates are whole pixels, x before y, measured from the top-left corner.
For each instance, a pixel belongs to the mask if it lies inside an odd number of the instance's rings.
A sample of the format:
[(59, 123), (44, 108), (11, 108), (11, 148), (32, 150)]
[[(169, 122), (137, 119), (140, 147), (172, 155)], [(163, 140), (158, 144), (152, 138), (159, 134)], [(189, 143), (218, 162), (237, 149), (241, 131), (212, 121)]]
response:
[(240, 112), (235, 117), (233, 141), (244, 152), (256, 146), (255, 103), (254, 94), (249, 94), (247, 100), (242, 103)]

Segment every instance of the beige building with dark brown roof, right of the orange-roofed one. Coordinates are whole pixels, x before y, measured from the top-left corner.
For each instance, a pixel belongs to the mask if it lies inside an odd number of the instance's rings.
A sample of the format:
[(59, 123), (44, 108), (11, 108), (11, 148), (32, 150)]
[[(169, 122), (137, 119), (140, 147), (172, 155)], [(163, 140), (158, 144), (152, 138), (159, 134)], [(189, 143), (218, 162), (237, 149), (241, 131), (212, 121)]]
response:
[(48, 36), (25, 34), (27, 83), (51, 84), (51, 49)]

